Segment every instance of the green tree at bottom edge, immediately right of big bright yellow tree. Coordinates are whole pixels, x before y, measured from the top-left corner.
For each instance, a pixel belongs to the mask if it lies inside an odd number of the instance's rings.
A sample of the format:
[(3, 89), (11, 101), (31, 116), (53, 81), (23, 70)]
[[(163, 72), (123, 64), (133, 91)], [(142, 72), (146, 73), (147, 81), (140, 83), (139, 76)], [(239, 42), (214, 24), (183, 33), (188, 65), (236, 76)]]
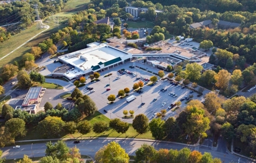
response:
[(153, 146), (148, 144), (142, 144), (135, 152), (135, 162), (136, 163), (150, 163), (155, 156), (156, 150)]

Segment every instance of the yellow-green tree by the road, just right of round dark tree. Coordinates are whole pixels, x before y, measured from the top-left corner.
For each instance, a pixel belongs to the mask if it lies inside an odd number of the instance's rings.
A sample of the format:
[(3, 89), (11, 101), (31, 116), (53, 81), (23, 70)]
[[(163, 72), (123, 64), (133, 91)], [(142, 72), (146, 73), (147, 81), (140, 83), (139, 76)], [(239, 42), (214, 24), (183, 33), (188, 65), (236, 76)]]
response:
[(157, 140), (161, 140), (164, 137), (164, 122), (162, 119), (152, 119), (149, 123), (149, 130), (152, 133), (152, 137)]

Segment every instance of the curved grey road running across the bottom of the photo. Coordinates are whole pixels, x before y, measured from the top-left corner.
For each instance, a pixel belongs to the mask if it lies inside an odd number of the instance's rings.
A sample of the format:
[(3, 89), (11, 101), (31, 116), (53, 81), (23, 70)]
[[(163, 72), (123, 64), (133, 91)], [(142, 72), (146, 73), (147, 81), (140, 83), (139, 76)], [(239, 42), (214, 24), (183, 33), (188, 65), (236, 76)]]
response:
[[(80, 144), (73, 144), (73, 141), (66, 141), (68, 144), (68, 147), (74, 147), (75, 145), (80, 149), (80, 153), (83, 155), (88, 155), (94, 158), (95, 153), (102, 148), (105, 144), (108, 144), (110, 139), (105, 138), (99, 138), (99, 139), (93, 139), (93, 140), (83, 140)], [(135, 155), (136, 149), (140, 148), (143, 143), (150, 144), (156, 149), (160, 148), (166, 148), (166, 149), (177, 149), (180, 150), (181, 148), (188, 147), (186, 145), (178, 145), (178, 144), (172, 144), (172, 143), (161, 143), (161, 142), (152, 142), (152, 141), (139, 141), (139, 140), (115, 140), (118, 142), (122, 148), (125, 149), (125, 151), (129, 155)], [(188, 147), (191, 150), (195, 150), (195, 148), (198, 147)], [(33, 157), (32, 151), (34, 154), (34, 157), (40, 157), (45, 156), (45, 143), (38, 143), (33, 144), (33, 148), (31, 150), (31, 144), (21, 145), (21, 148), (19, 149), (12, 149), (12, 147), (4, 147), (1, 148), (3, 151), (2, 157), (6, 157), (6, 159), (18, 159), (23, 158), (23, 155), (28, 155), (29, 157)], [(222, 152), (215, 152), (211, 149), (203, 149), (199, 148), (199, 152), (211, 152), (211, 155), (213, 157), (218, 157), (222, 159), (222, 163), (253, 163), (251, 161), (247, 161), (245, 159), (240, 159), (236, 156), (231, 155), (230, 153), (222, 153)]]

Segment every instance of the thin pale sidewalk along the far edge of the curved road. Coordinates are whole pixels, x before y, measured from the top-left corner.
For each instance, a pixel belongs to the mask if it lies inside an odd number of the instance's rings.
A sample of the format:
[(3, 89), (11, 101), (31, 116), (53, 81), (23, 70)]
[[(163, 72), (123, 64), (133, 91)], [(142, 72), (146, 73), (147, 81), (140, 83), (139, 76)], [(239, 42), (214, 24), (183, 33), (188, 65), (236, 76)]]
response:
[(173, 141), (158, 141), (158, 140), (151, 140), (151, 139), (118, 138), (118, 137), (96, 137), (96, 138), (82, 137), (82, 138), (63, 138), (63, 139), (37, 139), (37, 140), (15, 141), (15, 143), (31, 142), (31, 141), (77, 140), (77, 139), (80, 139), (80, 140), (91, 140), (91, 139), (100, 139), (100, 140), (102, 140), (102, 139), (104, 139), (104, 140), (120, 140), (120, 141), (148, 141), (148, 142), (184, 145), (184, 146), (188, 146), (188, 147), (200, 146), (200, 144), (199, 144), (200, 139), (197, 141), (196, 144), (184, 144), (184, 143), (177, 143), (177, 142), (173, 142)]

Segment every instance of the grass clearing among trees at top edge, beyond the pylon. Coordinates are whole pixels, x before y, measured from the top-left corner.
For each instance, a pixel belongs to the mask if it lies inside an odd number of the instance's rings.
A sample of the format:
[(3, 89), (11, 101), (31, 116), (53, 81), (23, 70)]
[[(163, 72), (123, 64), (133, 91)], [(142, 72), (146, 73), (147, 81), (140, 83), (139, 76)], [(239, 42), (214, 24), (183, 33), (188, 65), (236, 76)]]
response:
[(70, 11), (81, 11), (87, 8), (87, 3), (90, 0), (68, 0), (65, 4), (63, 12), (70, 12)]

